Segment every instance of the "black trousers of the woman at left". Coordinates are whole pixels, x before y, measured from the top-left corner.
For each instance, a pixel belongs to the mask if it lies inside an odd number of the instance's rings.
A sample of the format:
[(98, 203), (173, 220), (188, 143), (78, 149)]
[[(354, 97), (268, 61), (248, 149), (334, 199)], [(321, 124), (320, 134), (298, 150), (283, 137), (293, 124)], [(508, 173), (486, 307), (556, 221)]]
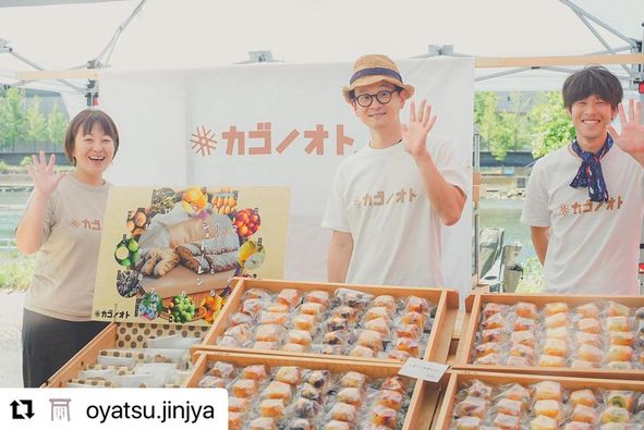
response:
[(24, 309), (24, 386), (42, 385), (107, 325), (99, 321), (65, 321)]

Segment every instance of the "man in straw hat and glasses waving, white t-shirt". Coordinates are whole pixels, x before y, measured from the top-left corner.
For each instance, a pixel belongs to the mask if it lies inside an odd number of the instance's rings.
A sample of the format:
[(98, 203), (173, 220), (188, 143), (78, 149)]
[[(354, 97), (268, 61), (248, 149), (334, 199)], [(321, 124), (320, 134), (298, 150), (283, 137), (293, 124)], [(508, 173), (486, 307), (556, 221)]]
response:
[(336, 171), (323, 226), (332, 230), (328, 280), (441, 286), (440, 229), (465, 204), (466, 171), (449, 142), (430, 136), (436, 116), (386, 56), (361, 57), (342, 90), (370, 142)]

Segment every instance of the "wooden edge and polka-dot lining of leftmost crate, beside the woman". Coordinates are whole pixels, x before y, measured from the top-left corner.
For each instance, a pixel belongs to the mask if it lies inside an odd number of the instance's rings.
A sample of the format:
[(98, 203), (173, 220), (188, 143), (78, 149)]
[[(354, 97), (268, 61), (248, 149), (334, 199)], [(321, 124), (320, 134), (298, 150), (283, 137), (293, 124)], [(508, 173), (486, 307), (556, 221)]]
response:
[(146, 324), (138, 322), (112, 322), (96, 335), (83, 349), (45, 382), (44, 388), (62, 388), (87, 366), (96, 364), (101, 349), (142, 347), (151, 336), (182, 333), (184, 336), (203, 337), (207, 325)]

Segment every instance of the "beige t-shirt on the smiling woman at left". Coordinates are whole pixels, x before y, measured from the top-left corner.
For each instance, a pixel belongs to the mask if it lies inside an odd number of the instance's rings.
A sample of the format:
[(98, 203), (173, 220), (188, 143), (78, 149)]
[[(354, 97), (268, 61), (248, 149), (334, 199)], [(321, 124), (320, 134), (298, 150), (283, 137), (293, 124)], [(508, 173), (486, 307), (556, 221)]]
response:
[(107, 183), (92, 186), (66, 175), (51, 194), (26, 309), (68, 321), (92, 319), (108, 189)]

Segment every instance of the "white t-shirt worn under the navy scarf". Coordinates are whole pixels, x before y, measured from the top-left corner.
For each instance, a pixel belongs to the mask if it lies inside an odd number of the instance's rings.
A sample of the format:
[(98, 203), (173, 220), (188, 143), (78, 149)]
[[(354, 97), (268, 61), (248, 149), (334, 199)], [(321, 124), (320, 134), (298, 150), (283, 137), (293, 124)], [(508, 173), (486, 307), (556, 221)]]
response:
[(527, 184), (521, 221), (550, 226), (546, 292), (636, 295), (644, 169), (617, 145), (602, 159), (609, 201), (573, 188), (581, 158), (570, 146), (538, 160)]

